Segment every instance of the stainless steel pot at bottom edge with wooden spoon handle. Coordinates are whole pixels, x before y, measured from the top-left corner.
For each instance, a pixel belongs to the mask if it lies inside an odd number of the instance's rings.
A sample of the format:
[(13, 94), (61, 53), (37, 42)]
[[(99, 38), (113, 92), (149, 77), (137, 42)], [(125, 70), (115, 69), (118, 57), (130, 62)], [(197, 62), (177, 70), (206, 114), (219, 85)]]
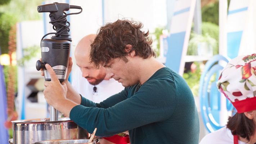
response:
[(99, 139), (94, 139), (93, 142), (88, 142), (89, 139), (69, 139), (69, 140), (45, 140), (39, 141), (34, 144), (96, 144), (98, 143)]

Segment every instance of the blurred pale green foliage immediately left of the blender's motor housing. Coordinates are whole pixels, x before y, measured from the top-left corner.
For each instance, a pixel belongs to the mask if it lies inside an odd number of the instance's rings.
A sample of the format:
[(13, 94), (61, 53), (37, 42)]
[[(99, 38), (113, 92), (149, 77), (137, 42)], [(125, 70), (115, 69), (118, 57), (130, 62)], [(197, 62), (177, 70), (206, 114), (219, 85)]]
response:
[(17, 61), (17, 64), (23, 67), (25, 62), (27, 62), (31, 58), (40, 57), (40, 52), (41, 52), (40, 46), (34, 45), (28, 48), (24, 48), (23, 57)]

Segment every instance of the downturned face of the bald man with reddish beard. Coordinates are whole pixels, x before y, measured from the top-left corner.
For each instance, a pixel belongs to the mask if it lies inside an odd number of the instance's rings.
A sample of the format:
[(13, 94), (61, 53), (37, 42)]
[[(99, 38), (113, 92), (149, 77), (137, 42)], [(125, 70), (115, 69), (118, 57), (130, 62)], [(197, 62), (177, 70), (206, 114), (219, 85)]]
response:
[(96, 69), (90, 63), (89, 57), (76, 57), (76, 63), (82, 72), (82, 77), (86, 78), (91, 85), (98, 85), (104, 80), (106, 76), (105, 68)]

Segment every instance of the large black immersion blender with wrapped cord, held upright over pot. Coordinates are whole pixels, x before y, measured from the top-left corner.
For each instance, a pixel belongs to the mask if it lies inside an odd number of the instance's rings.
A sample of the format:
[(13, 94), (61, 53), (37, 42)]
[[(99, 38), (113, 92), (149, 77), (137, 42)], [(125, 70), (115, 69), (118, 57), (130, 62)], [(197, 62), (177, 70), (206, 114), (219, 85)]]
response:
[[(69, 9), (80, 9), (78, 13), (65, 13)], [(69, 5), (65, 3), (53, 3), (37, 6), (37, 12), (49, 12), (50, 22), (53, 24), (53, 30), (56, 32), (47, 33), (41, 39), (41, 60), (36, 62), (37, 71), (43, 71), (46, 86), (61, 85), (63, 81), (67, 81), (72, 66), (72, 61), (69, 62), (69, 53), (71, 38), (69, 37), (70, 23), (67, 21), (67, 16), (71, 14), (80, 14), (82, 8), (76, 5)], [(68, 23), (68, 25), (67, 25)], [(47, 35), (55, 35), (50, 39), (44, 39)], [(46, 64), (50, 66), (45, 67)], [(63, 89), (55, 89), (55, 91), (63, 91), (67, 93), (66, 84), (62, 85)], [(55, 95), (51, 95), (53, 98)], [(56, 99), (58, 100), (58, 99)], [(50, 104), (50, 121), (58, 121), (58, 110), (51, 105), (51, 100), (47, 100)]]

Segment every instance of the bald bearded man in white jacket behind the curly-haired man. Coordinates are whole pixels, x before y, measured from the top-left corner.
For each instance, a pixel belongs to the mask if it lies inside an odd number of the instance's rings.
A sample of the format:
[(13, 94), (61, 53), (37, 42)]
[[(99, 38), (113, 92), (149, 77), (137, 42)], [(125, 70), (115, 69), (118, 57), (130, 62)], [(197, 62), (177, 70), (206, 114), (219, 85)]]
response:
[[(85, 98), (95, 103), (100, 103), (109, 96), (119, 93), (124, 87), (113, 78), (108, 79), (104, 67), (96, 69), (94, 65), (90, 63), (90, 45), (95, 36), (96, 35), (91, 34), (83, 37), (76, 46), (75, 58), (78, 68), (75, 69), (75, 75), (73, 75), (72, 78), (72, 86)], [(123, 141), (127, 141), (127, 138), (114, 135), (100, 139), (100, 144), (124, 144)]]

